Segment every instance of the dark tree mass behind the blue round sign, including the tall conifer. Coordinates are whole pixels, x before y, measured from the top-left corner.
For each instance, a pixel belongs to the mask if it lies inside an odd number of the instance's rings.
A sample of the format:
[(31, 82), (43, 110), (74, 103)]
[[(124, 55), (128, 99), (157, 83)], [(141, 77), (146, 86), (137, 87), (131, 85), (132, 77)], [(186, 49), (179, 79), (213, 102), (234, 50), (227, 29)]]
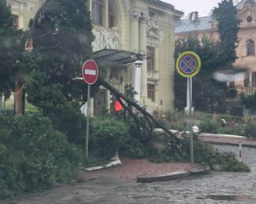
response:
[[(223, 0), (214, 8), (214, 17), (218, 20), (219, 41), (203, 37), (178, 39), (176, 42), (176, 59), (183, 51), (195, 51), (202, 61), (201, 71), (193, 77), (193, 101), (195, 109), (207, 112), (224, 112), (226, 100), (232, 89), (225, 82), (213, 80), (215, 71), (233, 69), (236, 60), (236, 42), (239, 31), (239, 20), (236, 18), (236, 7), (231, 0)], [(186, 79), (176, 73), (175, 77), (176, 106), (182, 110), (186, 103)]]

